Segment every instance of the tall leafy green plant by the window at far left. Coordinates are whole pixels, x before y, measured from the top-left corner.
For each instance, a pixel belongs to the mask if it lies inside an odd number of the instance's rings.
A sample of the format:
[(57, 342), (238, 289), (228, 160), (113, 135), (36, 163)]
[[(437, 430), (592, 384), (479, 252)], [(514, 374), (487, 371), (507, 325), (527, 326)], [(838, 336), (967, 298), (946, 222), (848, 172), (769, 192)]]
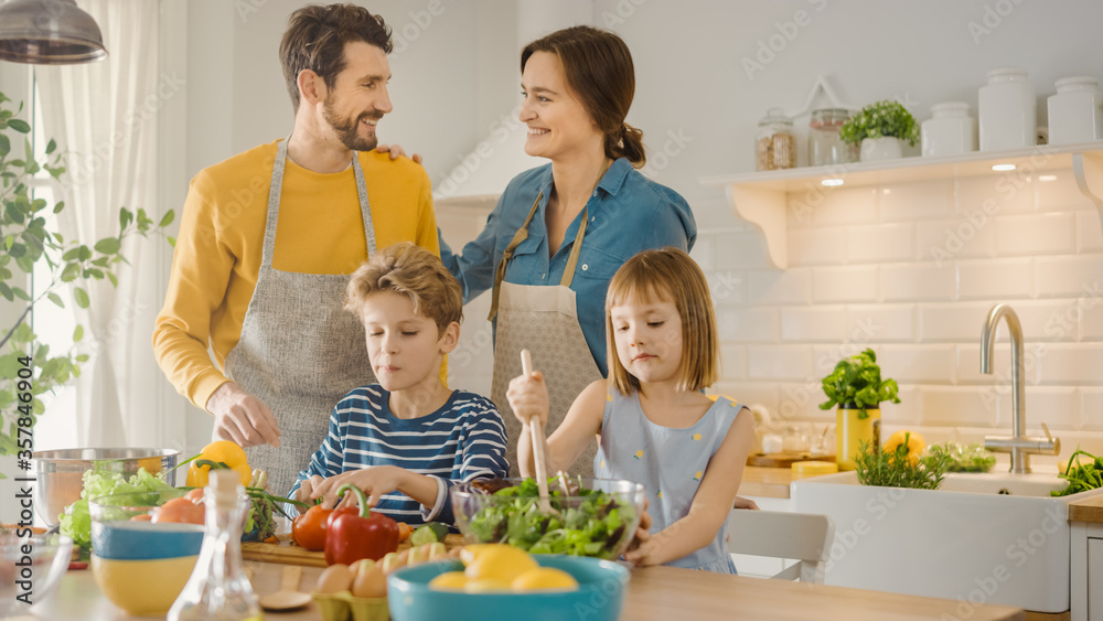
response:
[[(82, 325), (73, 333), (73, 346), (53, 352), (31, 326), (31, 311), (43, 300), (65, 308), (62, 292), (66, 287), (73, 303), (88, 308), (90, 299), (82, 283), (107, 279), (118, 286), (116, 270), (127, 263), (122, 255), (124, 239), (132, 235), (164, 235), (164, 228), (174, 217), (170, 210), (160, 222), (154, 222), (144, 210), (132, 212), (124, 207), (119, 210), (118, 235), (90, 245), (65, 239), (56, 231), (55, 218), (50, 217), (64, 211), (65, 202), (50, 204), (33, 197), (31, 184), (42, 172), (62, 182), (65, 174), (62, 153), (50, 140), (43, 161), (36, 160), (28, 137), (31, 126), (17, 118), (23, 105), (13, 108), (9, 103), (11, 99), (0, 93), (0, 297), (23, 304), (23, 310), (10, 328), (0, 326), (0, 456), (26, 449), (20, 446), (18, 419), (29, 417), (32, 425), (36, 422), (45, 411), (42, 395), (78, 376), (81, 364), (88, 360), (77, 346), (84, 338)], [(173, 238), (168, 239), (175, 244)], [(32, 288), (28, 285), (30, 276), (43, 261), (49, 277), (35, 279)], [(21, 377), (20, 370), (28, 366), (24, 362), (32, 361), (32, 377)], [(0, 478), (4, 478), (3, 473)]]

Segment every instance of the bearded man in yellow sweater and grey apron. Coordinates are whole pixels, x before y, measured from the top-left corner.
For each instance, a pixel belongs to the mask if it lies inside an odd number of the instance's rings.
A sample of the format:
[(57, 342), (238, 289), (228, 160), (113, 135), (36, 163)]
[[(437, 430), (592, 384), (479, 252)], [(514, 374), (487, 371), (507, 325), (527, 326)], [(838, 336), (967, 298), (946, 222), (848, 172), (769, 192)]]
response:
[(279, 50), (291, 136), (204, 169), (184, 203), (154, 354), (279, 492), (333, 405), (374, 382), (364, 329), (341, 308), (347, 275), (398, 242), (439, 254), (425, 171), (372, 151), (392, 110), (390, 50), (361, 7), (292, 13)]

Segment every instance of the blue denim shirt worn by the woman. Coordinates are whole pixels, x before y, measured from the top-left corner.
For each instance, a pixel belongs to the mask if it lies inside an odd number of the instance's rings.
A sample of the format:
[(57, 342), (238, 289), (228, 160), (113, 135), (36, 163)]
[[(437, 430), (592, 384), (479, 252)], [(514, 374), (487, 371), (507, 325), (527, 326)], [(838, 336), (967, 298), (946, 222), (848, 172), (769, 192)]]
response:
[[(514, 250), (505, 281), (559, 285), (582, 214), (575, 216), (559, 249), (549, 258), (545, 210), (553, 185), (552, 164), (525, 171), (513, 178), (488, 216), (486, 226), (463, 246), (462, 255), (453, 254), (440, 239), (440, 258), (463, 287), (464, 303), (494, 287), (497, 264), (540, 192), (544, 196), (528, 226), (528, 238)], [(640, 174), (624, 158), (606, 171), (587, 203), (587, 214), (590, 221), (570, 288), (575, 291), (582, 335), (593, 362), (606, 376), (604, 306), (609, 280), (641, 250), (674, 246), (688, 253), (697, 238), (697, 224), (685, 199)]]

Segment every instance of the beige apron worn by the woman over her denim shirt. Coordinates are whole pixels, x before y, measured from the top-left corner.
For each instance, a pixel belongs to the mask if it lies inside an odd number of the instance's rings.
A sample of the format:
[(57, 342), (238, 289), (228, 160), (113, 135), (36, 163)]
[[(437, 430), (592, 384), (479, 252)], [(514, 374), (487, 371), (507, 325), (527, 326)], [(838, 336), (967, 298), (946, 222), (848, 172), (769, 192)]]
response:
[[(543, 193), (536, 197), (525, 224), (517, 229), (505, 249), (499, 264), (491, 302), (490, 319), (494, 319), (495, 311), (497, 315), (491, 399), (502, 411), (502, 419), (505, 421), (508, 438), (505, 457), (510, 461), (512, 477), (518, 475), (517, 438), (521, 437), (521, 421), (513, 415), (513, 408), (510, 407), (505, 393), (510, 388), (510, 381), (522, 373), (521, 350), (527, 349), (532, 352), (533, 367), (544, 374), (544, 382), (548, 387), (550, 400), (546, 430), (548, 436), (563, 422), (567, 410), (582, 389), (601, 379), (601, 372), (593, 362), (582, 329), (578, 325), (575, 291), (570, 289), (578, 254), (582, 249), (582, 237), (586, 235), (587, 208), (582, 208), (582, 220), (575, 236), (575, 245), (570, 249), (567, 267), (558, 287), (515, 285), (504, 281), (506, 264), (517, 246), (528, 237), (528, 224), (533, 221), (533, 215), (536, 214), (543, 197)], [(593, 456), (597, 450), (597, 441), (591, 440), (575, 461), (570, 472), (592, 477)]]

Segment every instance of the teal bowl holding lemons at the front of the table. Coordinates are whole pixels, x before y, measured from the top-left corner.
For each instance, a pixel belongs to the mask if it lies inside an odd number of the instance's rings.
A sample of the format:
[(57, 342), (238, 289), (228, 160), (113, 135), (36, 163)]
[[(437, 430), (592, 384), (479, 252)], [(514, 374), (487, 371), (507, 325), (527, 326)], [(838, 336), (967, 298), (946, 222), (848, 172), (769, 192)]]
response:
[(459, 571), (458, 560), (441, 560), (407, 567), (387, 578), (392, 621), (485, 621), (524, 619), (561, 621), (587, 619), (615, 621), (620, 617), (629, 570), (610, 560), (581, 556), (533, 555), (543, 567), (555, 567), (578, 580), (577, 591), (528, 593), (464, 593), (429, 588), (429, 580), (446, 571)]

